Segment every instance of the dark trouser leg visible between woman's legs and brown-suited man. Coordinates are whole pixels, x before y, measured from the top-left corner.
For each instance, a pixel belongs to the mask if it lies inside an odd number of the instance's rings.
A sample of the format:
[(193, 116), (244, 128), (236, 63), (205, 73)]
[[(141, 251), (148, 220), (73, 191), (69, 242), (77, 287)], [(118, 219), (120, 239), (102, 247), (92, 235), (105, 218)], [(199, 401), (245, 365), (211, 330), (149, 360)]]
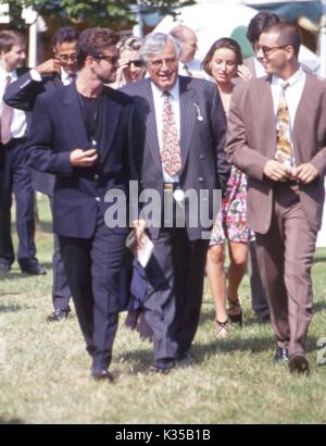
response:
[(251, 305), (256, 317), (264, 320), (269, 315), (269, 307), (262, 285), (255, 241), (250, 243), (249, 253), (248, 268), (251, 285)]

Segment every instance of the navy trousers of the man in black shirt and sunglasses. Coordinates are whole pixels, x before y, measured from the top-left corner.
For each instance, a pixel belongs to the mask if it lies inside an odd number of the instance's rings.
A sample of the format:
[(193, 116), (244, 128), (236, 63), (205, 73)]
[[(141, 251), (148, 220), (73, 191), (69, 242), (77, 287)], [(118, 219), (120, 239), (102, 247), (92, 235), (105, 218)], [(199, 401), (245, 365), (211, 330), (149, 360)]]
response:
[(59, 236), (78, 322), (95, 371), (106, 369), (117, 329), (121, 270), (126, 234), (98, 219), (92, 238)]

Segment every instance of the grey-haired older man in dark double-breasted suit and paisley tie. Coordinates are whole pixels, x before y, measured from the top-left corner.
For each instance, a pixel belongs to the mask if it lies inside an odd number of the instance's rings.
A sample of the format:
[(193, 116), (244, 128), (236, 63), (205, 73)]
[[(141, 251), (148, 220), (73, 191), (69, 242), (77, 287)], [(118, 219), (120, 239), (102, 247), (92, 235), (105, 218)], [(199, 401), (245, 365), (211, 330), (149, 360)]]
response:
[[(203, 232), (210, 227), (191, 223), (197, 211), (190, 208), (187, 194), (192, 189), (199, 197), (205, 189), (204, 205), (213, 219), (213, 189), (225, 188), (230, 169), (224, 154), (225, 114), (217, 90), (209, 82), (178, 76), (180, 51), (172, 36), (149, 35), (140, 55), (150, 78), (124, 87), (135, 98), (145, 125), (142, 187), (155, 191), (163, 211), (160, 227), (149, 224), (154, 253), (147, 268), (145, 301), (154, 343), (151, 370), (163, 373), (177, 360), (188, 361), (200, 317), (208, 249)], [(185, 225), (177, 223), (179, 210), (185, 211)]]

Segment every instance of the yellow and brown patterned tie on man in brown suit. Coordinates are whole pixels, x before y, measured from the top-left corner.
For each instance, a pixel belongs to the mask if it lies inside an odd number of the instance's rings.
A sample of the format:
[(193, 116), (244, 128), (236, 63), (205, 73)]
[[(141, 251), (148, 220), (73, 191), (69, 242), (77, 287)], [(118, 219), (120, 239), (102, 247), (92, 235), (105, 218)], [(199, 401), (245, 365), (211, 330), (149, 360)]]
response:
[(276, 115), (276, 133), (277, 133), (277, 144), (275, 159), (287, 168), (293, 168), (293, 151), (290, 138), (290, 114), (286, 100), (286, 89), (289, 84), (284, 84), (281, 86), (277, 115)]

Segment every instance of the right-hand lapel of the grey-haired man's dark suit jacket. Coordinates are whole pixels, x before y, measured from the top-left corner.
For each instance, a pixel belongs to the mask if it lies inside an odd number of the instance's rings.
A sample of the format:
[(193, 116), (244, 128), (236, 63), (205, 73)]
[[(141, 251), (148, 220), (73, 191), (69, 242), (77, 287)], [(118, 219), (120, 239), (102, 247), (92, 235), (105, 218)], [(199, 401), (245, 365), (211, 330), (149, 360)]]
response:
[(197, 113), (195, 92), (188, 88), (188, 78), (179, 77), (179, 102), (180, 102), (180, 152), (181, 152), (181, 171), (185, 169), (189, 147), (192, 138), (192, 131), (196, 126)]

